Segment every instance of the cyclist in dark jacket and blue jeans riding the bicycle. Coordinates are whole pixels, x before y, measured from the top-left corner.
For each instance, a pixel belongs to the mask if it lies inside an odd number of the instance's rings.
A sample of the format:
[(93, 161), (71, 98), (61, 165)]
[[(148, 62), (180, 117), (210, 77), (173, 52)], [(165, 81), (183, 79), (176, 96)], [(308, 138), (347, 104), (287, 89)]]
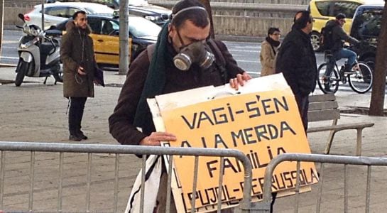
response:
[[(350, 73), (353, 72), (351, 67), (354, 65), (357, 55), (354, 51), (344, 48), (344, 42), (349, 42), (354, 45), (357, 45), (360, 42), (356, 38), (353, 38), (345, 33), (343, 29), (345, 18), (346, 16), (344, 13), (339, 13), (337, 14), (335, 20), (327, 22), (325, 28), (329, 28), (330, 31), (332, 31), (332, 47), (329, 48), (329, 51), (332, 54), (333, 59), (339, 60), (342, 58), (347, 58), (347, 63), (344, 65), (343, 72)], [(327, 69), (327, 73), (325, 73), (325, 75), (329, 77), (332, 74), (332, 69), (333, 62), (331, 60), (329, 62), (329, 69)], [(329, 87), (329, 85), (327, 85), (327, 87)]]

